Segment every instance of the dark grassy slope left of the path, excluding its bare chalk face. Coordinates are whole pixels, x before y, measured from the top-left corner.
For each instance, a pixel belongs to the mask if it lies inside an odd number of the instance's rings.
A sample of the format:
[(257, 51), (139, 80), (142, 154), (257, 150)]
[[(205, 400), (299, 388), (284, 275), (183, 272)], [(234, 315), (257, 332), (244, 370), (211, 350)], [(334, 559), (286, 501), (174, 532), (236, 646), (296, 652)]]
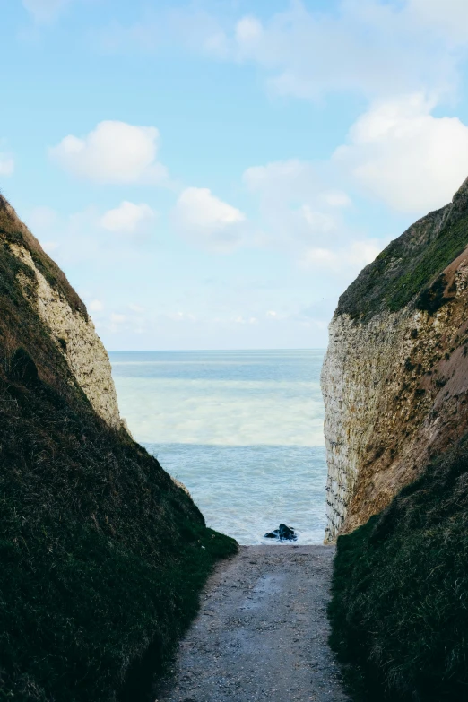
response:
[[(3, 201), (0, 235), (37, 245)], [(0, 700), (136, 702), (237, 545), (92, 411), (18, 272), (0, 241)]]

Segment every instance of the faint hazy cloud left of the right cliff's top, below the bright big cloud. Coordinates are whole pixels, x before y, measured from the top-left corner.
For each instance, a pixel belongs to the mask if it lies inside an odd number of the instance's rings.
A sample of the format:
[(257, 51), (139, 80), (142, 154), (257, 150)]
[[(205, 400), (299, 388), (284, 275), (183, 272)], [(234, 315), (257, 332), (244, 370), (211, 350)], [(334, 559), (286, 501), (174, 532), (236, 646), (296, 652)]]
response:
[[(342, 180), (337, 165), (277, 161), (247, 169), (243, 180), (260, 198), (264, 246), (288, 251), (300, 268), (335, 273), (351, 282), (386, 241), (365, 238), (343, 219), (342, 211), (352, 201), (343, 190), (329, 186)], [(270, 312), (267, 316), (274, 318)]]

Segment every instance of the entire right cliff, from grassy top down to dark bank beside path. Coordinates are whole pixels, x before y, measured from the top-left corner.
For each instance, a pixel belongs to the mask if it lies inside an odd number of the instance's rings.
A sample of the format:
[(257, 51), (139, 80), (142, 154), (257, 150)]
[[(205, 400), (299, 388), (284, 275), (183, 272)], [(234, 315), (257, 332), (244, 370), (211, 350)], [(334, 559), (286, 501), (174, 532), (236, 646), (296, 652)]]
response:
[(342, 295), (322, 383), (330, 643), (356, 702), (468, 689), (468, 183)]

